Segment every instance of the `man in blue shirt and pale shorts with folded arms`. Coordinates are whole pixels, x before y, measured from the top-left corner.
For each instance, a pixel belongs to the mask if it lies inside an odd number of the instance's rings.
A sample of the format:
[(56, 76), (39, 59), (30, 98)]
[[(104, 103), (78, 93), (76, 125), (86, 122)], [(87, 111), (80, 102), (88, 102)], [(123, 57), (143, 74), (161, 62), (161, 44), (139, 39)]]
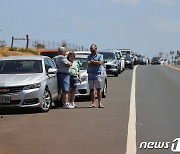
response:
[(103, 55), (97, 53), (97, 46), (92, 44), (90, 46), (91, 54), (88, 56), (88, 83), (91, 95), (90, 108), (96, 107), (95, 103), (95, 89), (97, 90), (98, 107), (104, 108), (102, 105), (102, 79), (101, 68), (103, 67)]

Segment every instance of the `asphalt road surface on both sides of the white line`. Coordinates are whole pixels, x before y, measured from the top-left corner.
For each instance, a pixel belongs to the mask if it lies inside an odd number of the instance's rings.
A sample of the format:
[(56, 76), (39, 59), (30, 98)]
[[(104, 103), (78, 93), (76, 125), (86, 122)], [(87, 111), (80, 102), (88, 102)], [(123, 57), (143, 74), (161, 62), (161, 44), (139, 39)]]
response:
[[(108, 77), (104, 109), (0, 110), (0, 154), (125, 154), (133, 70)], [(142, 141), (171, 142), (180, 137), (180, 71), (167, 66), (136, 69), (137, 154), (169, 154), (139, 149)]]

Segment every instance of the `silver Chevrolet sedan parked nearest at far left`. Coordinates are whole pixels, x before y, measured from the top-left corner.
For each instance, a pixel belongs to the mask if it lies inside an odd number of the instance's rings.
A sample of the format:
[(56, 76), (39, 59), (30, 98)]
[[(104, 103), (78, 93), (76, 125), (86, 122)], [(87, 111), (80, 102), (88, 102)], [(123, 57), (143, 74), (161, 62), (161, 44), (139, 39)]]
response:
[(0, 108), (30, 107), (50, 110), (57, 100), (57, 69), (46, 56), (0, 58)]

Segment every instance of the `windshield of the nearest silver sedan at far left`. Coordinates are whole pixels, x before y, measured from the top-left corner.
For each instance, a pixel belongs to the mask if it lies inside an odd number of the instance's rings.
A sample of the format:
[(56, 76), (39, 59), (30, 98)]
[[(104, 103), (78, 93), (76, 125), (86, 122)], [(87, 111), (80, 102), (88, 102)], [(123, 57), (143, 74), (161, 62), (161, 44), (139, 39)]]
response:
[(42, 73), (41, 60), (1, 60), (0, 74)]

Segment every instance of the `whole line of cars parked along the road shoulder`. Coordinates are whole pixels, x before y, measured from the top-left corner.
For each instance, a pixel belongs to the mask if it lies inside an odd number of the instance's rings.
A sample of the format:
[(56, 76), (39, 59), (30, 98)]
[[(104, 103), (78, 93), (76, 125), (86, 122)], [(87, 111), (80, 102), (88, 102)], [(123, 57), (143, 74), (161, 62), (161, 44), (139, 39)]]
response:
[[(54, 102), (60, 102), (57, 84), (56, 51), (53, 56), (11, 56), (0, 58), (0, 108), (30, 107), (48, 112)], [(131, 53), (120, 49), (104, 50), (99, 53), (104, 56), (101, 73), (102, 96), (107, 95), (107, 74), (118, 76), (126, 67), (133, 68)], [(90, 51), (76, 51), (76, 59), (80, 62), (81, 83), (77, 85), (76, 96), (90, 96), (87, 74), (87, 56)], [(50, 58), (51, 57), (51, 58)], [(54, 58), (53, 58), (54, 57)]]

